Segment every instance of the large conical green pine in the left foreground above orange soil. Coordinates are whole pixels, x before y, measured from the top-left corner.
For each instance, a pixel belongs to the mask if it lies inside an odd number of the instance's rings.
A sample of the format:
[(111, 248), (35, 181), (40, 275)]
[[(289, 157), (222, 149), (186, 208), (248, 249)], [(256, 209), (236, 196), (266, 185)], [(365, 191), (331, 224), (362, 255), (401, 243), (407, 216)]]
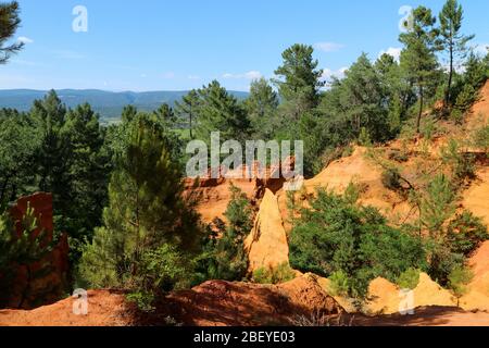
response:
[(79, 275), (93, 287), (156, 296), (184, 281), (186, 260), (198, 251), (198, 215), (183, 198), (162, 125), (139, 114), (127, 132), (109, 185), (104, 226), (85, 247)]

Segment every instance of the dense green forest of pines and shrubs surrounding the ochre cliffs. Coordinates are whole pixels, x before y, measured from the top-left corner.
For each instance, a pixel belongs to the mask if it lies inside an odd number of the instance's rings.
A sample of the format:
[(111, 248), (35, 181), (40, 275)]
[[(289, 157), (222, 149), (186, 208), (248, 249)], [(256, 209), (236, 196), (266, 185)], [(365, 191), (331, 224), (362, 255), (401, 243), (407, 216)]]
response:
[[(0, 4), (0, 21), (5, 64), (22, 50), (8, 45), (21, 23), (18, 4)], [(438, 15), (419, 7), (411, 22), (399, 37), (399, 60), (362, 54), (344, 77), (328, 82), (313, 47), (293, 45), (276, 78), (254, 80), (246, 100), (213, 80), (175, 108), (127, 105), (111, 125), (102, 125), (90, 104), (66, 108), (54, 91), (28, 112), (0, 110), (0, 274), (36, 259), (39, 244), (14, 238), (9, 204), (45, 191), (53, 195), (55, 231), (68, 234), (72, 288), (127, 289), (145, 309), (162, 294), (205, 279), (288, 278), (290, 270), (281, 269), (247, 274), (243, 240), (253, 211), (238, 189), (226, 223), (201, 222), (196, 200), (184, 195), (186, 144), (208, 142), (216, 130), (238, 141), (303, 140), (304, 172), (312, 177), (353, 144), (372, 147), (401, 134), (426, 138), (434, 123), (462, 124), (489, 77), (489, 55), (472, 50), (474, 36), (463, 32), (456, 0)], [(487, 125), (477, 141), (487, 147)], [(358, 206), (354, 185), (344, 197), (319, 190), (293, 221), (291, 266), (328, 276), (355, 298), (376, 276), (409, 285), (416, 270), (456, 287), (467, 256), (489, 235), (471, 213), (449, 214), (457, 181), (471, 175), (469, 158), (454, 149), (450, 159), (453, 175), (436, 176), (423, 194), (405, 189), (396, 167), (386, 169), (386, 186), (417, 195), (423, 213), (414, 224), (393, 226), (378, 210)]]

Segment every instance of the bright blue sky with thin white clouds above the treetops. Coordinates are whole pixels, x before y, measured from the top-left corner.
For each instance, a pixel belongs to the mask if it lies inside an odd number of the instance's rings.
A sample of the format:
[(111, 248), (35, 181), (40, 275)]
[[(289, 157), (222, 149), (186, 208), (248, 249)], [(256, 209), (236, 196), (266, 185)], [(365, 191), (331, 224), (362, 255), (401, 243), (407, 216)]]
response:
[[(247, 90), (273, 76), (281, 52), (314, 45), (326, 75), (340, 74), (363, 51), (400, 48), (403, 5), (436, 13), (443, 0), (20, 0), (25, 49), (0, 66), (0, 88), (185, 90), (216, 78)], [(462, 0), (464, 32), (489, 44), (489, 1)], [(75, 33), (73, 9), (88, 11)]]

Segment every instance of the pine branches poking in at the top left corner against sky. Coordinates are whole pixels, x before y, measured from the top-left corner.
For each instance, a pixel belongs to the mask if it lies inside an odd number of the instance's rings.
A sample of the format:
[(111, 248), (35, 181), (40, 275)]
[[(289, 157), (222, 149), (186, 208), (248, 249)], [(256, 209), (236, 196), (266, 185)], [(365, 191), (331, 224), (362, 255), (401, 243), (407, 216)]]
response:
[(17, 53), (24, 44), (8, 45), (21, 25), (21, 9), (17, 1), (0, 3), (0, 64), (5, 64), (12, 54)]

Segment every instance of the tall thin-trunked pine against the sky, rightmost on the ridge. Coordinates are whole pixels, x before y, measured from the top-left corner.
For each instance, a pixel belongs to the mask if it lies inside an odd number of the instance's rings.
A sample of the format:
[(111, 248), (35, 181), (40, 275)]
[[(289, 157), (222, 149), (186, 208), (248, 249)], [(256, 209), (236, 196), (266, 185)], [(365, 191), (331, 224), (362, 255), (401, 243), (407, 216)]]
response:
[(464, 58), (467, 53), (467, 42), (475, 36), (465, 36), (461, 34), (463, 22), (463, 9), (457, 0), (447, 0), (443, 9), (439, 14), (440, 20), (440, 37), (441, 48), (448, 52), (449, 55), (449, 74), (447, 89), (444, 94), (444, 109), (449, 111), (452, 101), (452, 80), (454, 73), (454, 63), (456, 57)]

